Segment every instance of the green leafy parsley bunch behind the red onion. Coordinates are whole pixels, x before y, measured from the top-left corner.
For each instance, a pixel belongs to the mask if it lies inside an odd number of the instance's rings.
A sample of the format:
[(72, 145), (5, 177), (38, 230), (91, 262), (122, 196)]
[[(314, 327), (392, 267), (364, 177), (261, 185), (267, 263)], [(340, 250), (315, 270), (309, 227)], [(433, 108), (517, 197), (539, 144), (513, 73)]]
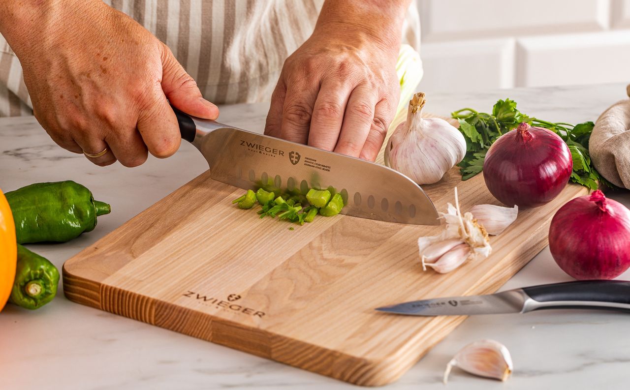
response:
[(591, 121), (573, 126), (569, 123), (539, 120), (518, 111), (516, 102), (511, 99), (497, 101), (491, 114), (462, 108), (451, 113), (451, 116), (459, 120), (459, 131), (466, 138), (466, 156), (457, 164), (462, 180), (470, 179), (481, 172), (486, 152), (497, 138), (516, 128), (518, 123), (527, 122), (553, 131), (566, 142), (573, 158), (572, 182), (590, 189), (597, 189), (597, 182), (612, 187), (593, 167), (588, 155), (588, 138), (594, 126)]

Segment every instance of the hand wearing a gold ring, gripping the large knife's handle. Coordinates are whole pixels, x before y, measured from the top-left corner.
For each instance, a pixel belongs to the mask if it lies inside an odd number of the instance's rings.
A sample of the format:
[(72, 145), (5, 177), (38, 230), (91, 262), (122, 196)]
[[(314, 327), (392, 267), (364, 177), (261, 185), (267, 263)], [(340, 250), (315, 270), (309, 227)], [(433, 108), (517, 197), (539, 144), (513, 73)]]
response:
[(169, 102), (200, 118), (219, 116), (171, 50), (129, 16), (100, 0), (54, 4), (37, 28), (7, 39), (35, 118), (61, 147), (92, 154), (107, 147), (89, 160), (135, 167), (147, 150), (163, 158), (180, 146)]

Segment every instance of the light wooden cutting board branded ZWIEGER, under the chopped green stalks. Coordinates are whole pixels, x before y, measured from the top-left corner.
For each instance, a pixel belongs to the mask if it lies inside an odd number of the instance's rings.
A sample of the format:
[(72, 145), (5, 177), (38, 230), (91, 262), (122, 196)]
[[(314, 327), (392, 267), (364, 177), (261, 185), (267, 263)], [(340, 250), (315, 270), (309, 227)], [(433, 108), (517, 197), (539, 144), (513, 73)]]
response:
[[(457, 169), (424, 189), (444, 210), (454, 186), (464, 210), (498, 204), (482, 175), (462, 182)], [(379, 386), (398, 379), (464, 317), (387, 315), (375, 307), (496, 291), (547, 244), (555, 211), (587, 191), (569, 185), (553, 202), (521, 211), (491, 237), (488, 259), (444, 275), (422, 271), (416, 246), (439, 226), (336, 216), (289, 230), (294, 225), (232, 206), (241, 192), (200, 175), (67, 260), (67, 298)]]

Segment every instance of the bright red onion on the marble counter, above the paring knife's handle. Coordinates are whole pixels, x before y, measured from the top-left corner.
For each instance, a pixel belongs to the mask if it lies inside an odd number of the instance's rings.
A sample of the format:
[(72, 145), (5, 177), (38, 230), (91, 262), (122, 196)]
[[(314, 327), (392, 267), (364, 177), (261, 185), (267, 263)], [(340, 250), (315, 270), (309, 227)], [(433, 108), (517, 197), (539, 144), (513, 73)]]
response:
[(613, 279), (630, 267), (630, 210), (599, 190), (568, 201), (551, 220), (549, 249), (575, 279)]

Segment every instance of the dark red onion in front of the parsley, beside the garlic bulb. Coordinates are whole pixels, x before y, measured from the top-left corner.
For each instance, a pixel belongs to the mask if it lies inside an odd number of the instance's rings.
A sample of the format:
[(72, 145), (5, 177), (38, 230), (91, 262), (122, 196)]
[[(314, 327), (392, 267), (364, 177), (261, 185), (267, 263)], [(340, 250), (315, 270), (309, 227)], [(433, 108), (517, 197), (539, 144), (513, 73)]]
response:
[(571, 152), (553, 131), (521, 123), (492, 144), (483, 162), (490, 193), (506, 206), (542, 206), (556, 198), (573, 170)]

